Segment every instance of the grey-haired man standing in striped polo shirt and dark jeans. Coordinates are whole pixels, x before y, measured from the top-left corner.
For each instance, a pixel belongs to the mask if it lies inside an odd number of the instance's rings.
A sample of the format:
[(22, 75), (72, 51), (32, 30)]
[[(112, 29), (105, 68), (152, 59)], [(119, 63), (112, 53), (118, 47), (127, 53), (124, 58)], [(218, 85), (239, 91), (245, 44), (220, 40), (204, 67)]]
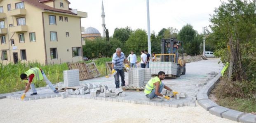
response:
[(125, 86), (125, 81), (124, 81), (124, 62), (125, 56), (124, 53), (121, 52), (121, 48), (117, 48), (115, 50), (115, 53), (113, 54), (112, 57), (112, 74), (117, 72), (115, 74), (115, 88), (119, 88), (120, 81), (119, 81), (119, 75), (121, 76), (121, 86)]

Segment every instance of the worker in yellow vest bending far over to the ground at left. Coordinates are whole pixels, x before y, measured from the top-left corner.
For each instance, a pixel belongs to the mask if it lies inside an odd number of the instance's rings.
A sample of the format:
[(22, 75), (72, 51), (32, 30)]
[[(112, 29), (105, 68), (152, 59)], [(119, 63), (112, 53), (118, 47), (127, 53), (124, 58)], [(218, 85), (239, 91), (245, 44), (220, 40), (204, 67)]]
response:
[(31, 96), (37, 95), (34, 83), (38, 82), (40, 80), (44, 80), (46, 82), (46, 84), (48, 84), (49, 87), (52, 89), (52, 91), (54, 91), (54, 93), (59, 93), (59, 91), (57, 91), (54, 88), (54, 86), (52, 85), (52, 82), (50, 82), (48, 80), (44, 71), (42, 71), (42, 69), (40, 69), (40, 68), (30, 68), (25, 73), (22, 73), (20, 75), (20, 77), (21, 77), (21, 80), (28, 80), (28, 81), (25, 81), (26, 82), (26, 89), (25, 89), (24, 93), (21, 96), (22, 100), (26, 97), (26, 92), (28, 92), (29, 87), (31, 87), (31, 89), (33, 91), (33, 93), (31, 93), (30, 95)]

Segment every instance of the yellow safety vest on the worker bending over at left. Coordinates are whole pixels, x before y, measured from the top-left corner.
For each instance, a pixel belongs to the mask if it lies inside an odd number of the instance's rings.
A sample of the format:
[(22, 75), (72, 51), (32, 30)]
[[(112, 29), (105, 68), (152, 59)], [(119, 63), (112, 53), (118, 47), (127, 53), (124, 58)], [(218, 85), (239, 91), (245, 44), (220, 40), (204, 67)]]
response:
[[(32, 80), (33, 83), (35, 83), (36, 81), (39, 80), (43, 80), (43, 76), (42, 76), (42, 72), (39, 68), (30, 68), (28, 71), (25, 72), (25, 74), (27, 75), (27, 77), (31, 74), (34, 74), (34, 78)], [(28, 81), (25, 81), (28, 83)]]

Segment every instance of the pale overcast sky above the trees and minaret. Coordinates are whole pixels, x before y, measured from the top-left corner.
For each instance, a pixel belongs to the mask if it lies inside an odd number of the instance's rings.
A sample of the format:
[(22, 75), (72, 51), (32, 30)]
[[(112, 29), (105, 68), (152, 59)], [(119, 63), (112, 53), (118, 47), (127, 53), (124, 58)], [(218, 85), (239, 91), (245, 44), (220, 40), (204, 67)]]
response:
[[(68, 0), (72, 9), (87, 12), (81, 19), (85, 28), (94, 27), (102, 34), (102, 0)], [(116, 27), (131, 27), (147, 30), (146, 0), (103, 0), (105, 24), (112, 36)], [(221, 5), (220, 0), (149, 0), (150, 32), (156, 34), (167, 27), (178, 30), (191, 24), (194, 30), (202, 33), (202, 27), (210, 24), (210, 14)]]

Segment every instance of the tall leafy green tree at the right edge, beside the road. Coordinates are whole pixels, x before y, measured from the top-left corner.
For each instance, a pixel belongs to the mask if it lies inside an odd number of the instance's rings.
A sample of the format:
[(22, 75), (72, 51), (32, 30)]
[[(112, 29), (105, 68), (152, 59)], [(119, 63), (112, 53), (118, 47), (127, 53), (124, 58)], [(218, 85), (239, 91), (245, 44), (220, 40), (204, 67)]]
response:
[(210, 18), (211, 30), (218, 39), (216, 55), (222, 62), (230, 62), (230, 81), (256, 80), (255, 10), (253, 2), (228, 0)]

